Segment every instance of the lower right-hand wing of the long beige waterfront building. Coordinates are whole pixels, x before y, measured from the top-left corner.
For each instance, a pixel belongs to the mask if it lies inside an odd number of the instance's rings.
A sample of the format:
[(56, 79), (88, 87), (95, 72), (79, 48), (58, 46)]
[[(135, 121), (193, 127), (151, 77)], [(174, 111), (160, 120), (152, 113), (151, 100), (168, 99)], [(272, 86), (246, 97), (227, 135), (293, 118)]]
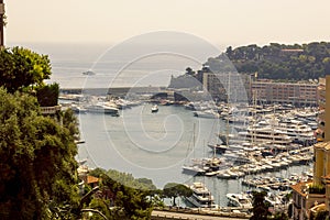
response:
[(257, 79), (251, 82), (251, 90), (260, 102), (290, 103), (294, 106), (317, 106), (318, 84), (278, 82), (270, 79)]

